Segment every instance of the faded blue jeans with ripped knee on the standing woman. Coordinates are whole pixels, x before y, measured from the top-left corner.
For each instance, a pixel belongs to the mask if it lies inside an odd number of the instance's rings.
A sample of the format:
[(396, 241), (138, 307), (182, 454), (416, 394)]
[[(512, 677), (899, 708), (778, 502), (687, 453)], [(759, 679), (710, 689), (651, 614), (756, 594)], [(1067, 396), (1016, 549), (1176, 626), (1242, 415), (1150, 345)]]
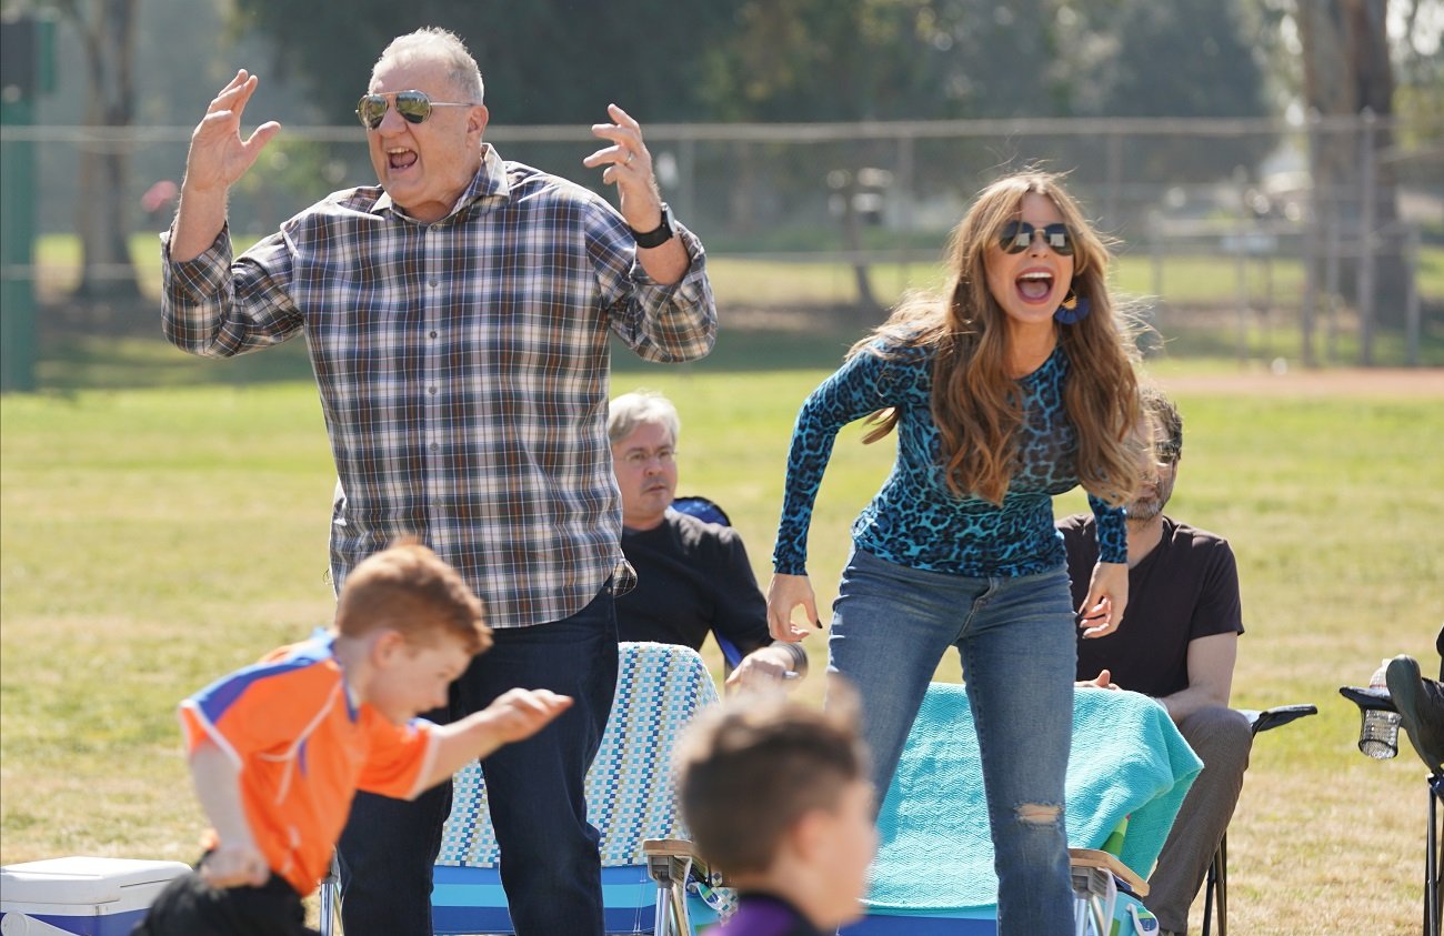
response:
[[(1063, 568), (966, 578), (855, 549), (833, 604), (827, 670), (845, 676), (861, 696), (879, 800), (937, 663), (947, 647), (957, 647), (982, 754), (1004, 936), (1073, 932), (1063, 818), (1073, 628)], [(1025, 806), (1057, 815), (1024, 818)]]

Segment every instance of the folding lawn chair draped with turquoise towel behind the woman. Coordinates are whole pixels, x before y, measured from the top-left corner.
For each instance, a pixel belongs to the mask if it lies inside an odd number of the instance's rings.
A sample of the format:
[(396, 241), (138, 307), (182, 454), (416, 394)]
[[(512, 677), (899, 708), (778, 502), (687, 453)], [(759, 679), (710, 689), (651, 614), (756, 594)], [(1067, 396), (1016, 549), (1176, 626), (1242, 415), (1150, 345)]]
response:
[[(1105, 689), (1074, 693), (1066, 794), (1077, 933), (1157, 932), (1138, 901), (1148, 885), (1134, 870), (1152, 868), (1200, 768), (1152, 699)], [(928, 688), (878, 831), (866, 917), (843, 933), (996, 933), (998, 878), (963, 686)]]

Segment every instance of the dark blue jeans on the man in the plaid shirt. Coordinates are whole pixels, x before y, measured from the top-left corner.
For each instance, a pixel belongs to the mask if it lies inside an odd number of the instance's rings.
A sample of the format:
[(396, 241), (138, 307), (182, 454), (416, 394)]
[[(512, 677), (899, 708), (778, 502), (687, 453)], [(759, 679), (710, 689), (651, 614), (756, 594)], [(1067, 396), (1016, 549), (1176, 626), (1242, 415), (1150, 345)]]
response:
[[(601, 835), (586, 822), (586, 770), (617, 690), (617, 615), (609, 585), (562, 621), (494, 631), (495, 643), (452, 683), (455, 721), (513, 686), (575, 699), (533, 738), (481, 761), (501, 884), (518, 936), (601, 936)], [(432, 865), (451, 812), (451, 783), (412, 802), (358, 793), (341, 835), (347, 936), (432, 936)]]

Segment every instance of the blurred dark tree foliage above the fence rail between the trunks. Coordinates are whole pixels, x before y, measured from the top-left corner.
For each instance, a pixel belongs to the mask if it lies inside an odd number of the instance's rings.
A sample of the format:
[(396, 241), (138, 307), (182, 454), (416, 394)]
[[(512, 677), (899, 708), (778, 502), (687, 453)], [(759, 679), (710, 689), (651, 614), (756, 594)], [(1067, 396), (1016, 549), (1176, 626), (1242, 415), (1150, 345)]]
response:
[(1252, 116), (1239, 0), (238, 0), (326, 114), (396, 35), (468, 40), (503, 123)]

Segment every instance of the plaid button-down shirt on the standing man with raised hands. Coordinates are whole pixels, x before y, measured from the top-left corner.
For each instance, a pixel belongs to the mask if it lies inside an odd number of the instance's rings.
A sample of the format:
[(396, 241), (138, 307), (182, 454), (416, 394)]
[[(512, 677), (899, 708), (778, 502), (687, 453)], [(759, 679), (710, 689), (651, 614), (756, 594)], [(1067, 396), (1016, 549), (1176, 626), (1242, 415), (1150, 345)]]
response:
[(651, 361), (712, 348), (702, 244), (679, 235), (692, 264), (658, 285), (602, 198), (487, 146), (430, 225), (364, 186), (234, 261), (227, 231), (185, 263), (162, 235), (163, 326), (206, 357), (305, 334), (347, 494), (331, 527), (336, 588), (416, 533), (492, 627), (524, 627), (583, 608), (621, 562), (608, 331)]

